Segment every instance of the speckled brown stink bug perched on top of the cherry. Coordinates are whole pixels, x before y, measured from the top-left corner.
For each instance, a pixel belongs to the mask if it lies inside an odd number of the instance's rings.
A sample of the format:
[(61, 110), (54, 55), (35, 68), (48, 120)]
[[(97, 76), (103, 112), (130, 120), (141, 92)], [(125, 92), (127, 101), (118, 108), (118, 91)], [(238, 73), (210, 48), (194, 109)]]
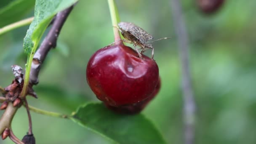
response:
[[(154, 59), (154, 48), (151, 44), (147, 43), (148, 40), (152, 40), (154, 38), (152, 35), (150, 35), (144, 29), (136, 26), (135, 24), (133, 24), (131, 22), (120, 22), (118, 24), (117, 28), (119, 29), (119, 31), (125, 38), (125, 40), (123, 40), (123, 42), (133, 43), (133, 46), (136, 49), (136, 51), (138, 52), (140, 58), (142, 58), (141, 53), (143, 53), (145, 51), (145, 48), (151, 48), (152, 49), (151, 59)], [(164, 38), (160, 38), (158, 40), (168, 39), (168, 38), (170, 38), (170, 37), (164, 37)], [(157, 40), (155, 40), (155, 41), (157, 41)], [(153, 41), (153, 42), (155, 42), (155, 41)], [(153, 42), (150, 42), (150, 43), (153, 43)], [(136, 48), (137, 45), (142, 48), (141, 52), (139, 52), (138, 49)]]

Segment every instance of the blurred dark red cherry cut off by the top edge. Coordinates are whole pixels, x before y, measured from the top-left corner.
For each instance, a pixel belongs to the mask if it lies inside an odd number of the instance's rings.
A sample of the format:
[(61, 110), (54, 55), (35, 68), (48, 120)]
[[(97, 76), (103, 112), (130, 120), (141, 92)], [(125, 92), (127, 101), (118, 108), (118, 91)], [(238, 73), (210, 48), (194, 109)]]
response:
[(204, 13), (214, 13), (217, 11), (224, 0), (197, 0), (197, 4)]

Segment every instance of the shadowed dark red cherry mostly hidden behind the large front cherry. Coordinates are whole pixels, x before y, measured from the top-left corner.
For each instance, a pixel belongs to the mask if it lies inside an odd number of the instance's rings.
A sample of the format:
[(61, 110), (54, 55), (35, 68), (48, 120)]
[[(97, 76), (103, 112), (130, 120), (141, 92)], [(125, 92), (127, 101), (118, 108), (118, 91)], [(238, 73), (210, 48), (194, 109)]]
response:
[(155, 88), (155, 91), (152, 93), (151, 96), (149, 96), (149, 98), (145, 99), (144, 101), (138, 102), (136, 104), (129, 104), (129, 105), (123, 105), (120, 107), (113, 107), (110, 106), (108, 104), (105, 103), (105, 105), (107, 106), (107, 108), (120, 113), (120, 114), (138, 114), (139, 112), (141, 112), (149, 103), (149, 101), (151, 101), (152, 99), (155, 98), (155, 96), (157, 95), (157, 93), (159, 92), (161, 87), (161, 80), (160, 77), (158, 79), (158, 83), (157, 83), (157, 87)]

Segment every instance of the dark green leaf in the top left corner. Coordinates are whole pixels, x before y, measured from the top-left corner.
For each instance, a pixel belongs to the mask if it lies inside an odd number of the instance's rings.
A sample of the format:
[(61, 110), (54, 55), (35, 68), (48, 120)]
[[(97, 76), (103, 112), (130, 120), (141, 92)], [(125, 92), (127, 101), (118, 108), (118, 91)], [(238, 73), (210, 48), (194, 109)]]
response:
[(4, 0), (0, 2), (0, 27), (11, 24), (29, 13), (35, 5), (35, 0)]

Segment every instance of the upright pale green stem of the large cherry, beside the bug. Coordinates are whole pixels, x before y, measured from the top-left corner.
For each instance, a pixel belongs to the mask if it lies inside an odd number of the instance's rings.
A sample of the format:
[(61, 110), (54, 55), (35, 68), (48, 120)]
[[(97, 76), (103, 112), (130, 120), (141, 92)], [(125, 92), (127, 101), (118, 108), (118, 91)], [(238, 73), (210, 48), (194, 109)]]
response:
[(123, 44), (123, 42), (121, 41), (121, 37), (118, 30), (118, 25), (117, 25), (118, 22), (120, 21), (120, 18), (117, 11), (117, 7), (115, 5), (115, 0), (108, 0), (108, 4), (109, 4), (110, 15), (111, 15), (112, 27), (114, 31), (114, 37), (115, 37), (114, 39), (116, 42), (115, 44), (120, 45), (120, 44)]

